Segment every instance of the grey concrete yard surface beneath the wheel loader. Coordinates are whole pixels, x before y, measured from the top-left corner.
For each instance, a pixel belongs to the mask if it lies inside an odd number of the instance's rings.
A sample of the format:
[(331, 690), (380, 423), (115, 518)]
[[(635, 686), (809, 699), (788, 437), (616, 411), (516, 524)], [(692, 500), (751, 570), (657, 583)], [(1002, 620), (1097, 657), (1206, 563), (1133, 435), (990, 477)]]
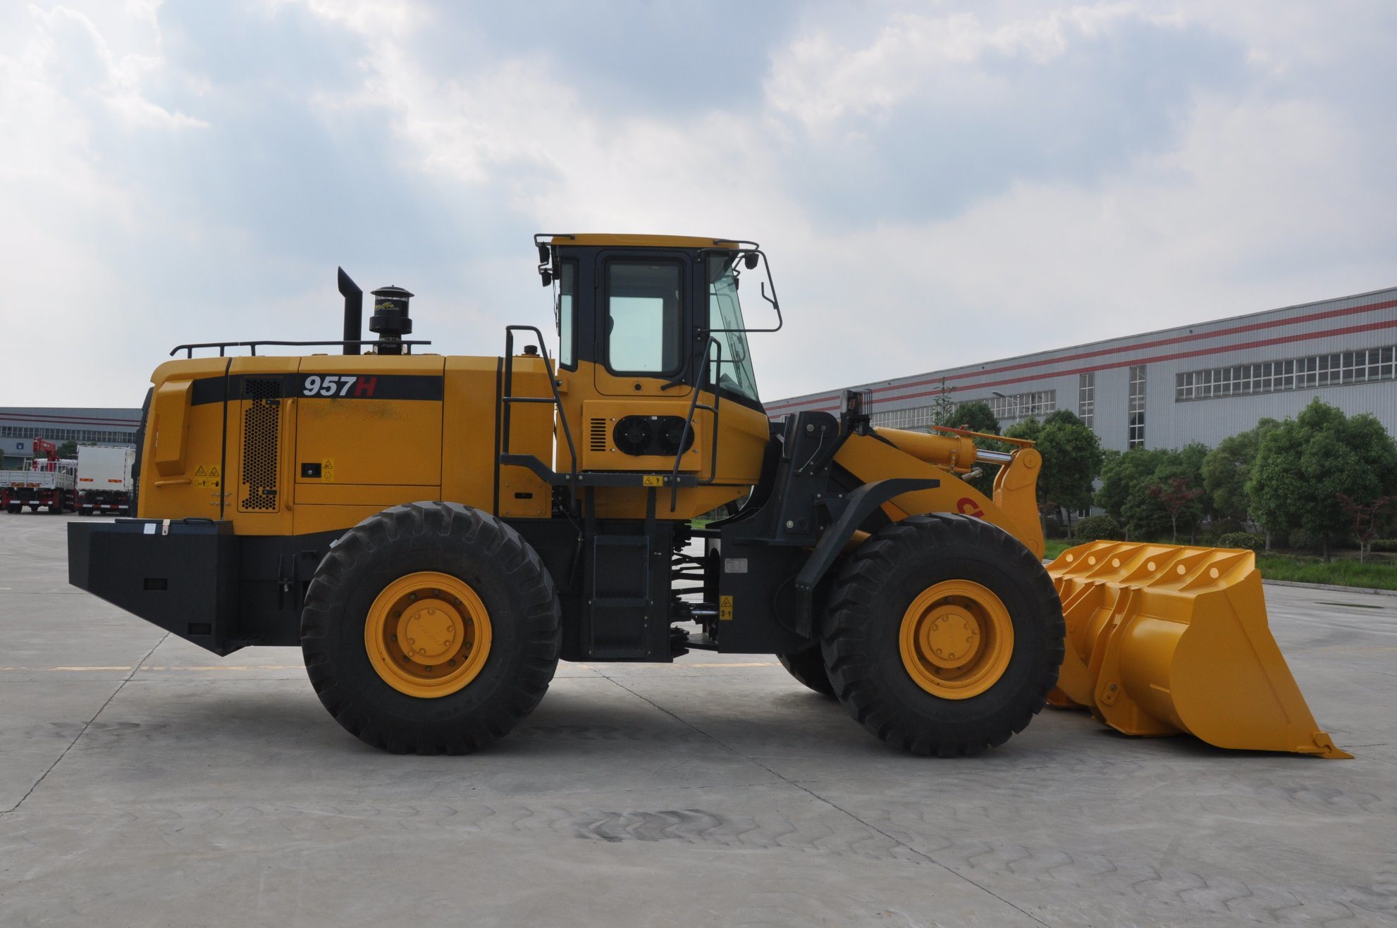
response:
[(1045, 711), (883, 746), (770, 657), (564, 664), (469, 757), (380, 753), (295, 648), (217, 658), (0, 514), (0, 922), (1397, 924), (1397, 598), (1268, 587), (1355, 760)]

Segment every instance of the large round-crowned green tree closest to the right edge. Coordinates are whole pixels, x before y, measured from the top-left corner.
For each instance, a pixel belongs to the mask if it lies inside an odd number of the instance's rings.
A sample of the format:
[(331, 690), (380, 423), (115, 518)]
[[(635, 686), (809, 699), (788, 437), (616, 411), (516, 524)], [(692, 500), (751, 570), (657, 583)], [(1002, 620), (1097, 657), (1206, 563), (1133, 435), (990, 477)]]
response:
[(1370, 505), (1397, 491), (1397, 443), (1368, 415), (1345, 416), (1316, 397), (1260, 443), (1246, 493), (1273, 531), (1303, 528), (1330, 545), (1351, 527), (1340, 495)]

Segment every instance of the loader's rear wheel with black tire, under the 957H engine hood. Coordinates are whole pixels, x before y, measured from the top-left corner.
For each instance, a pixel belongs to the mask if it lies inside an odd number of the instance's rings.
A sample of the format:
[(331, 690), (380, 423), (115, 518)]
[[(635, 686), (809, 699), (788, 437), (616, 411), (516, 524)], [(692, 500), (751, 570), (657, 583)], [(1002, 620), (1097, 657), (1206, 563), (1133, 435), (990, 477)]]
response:
[[(471, 651), (453, 651), (460, 665), (444, 657), (414, 664), (402, 651), (386, 664), (370, 644), (376, 629), (386, 629), (377, 640), (391, 648), (388, 632), (414, 628), (422, 604), (393, 619), (384, 609), (407, 604), (394, 597), (415, 601), (400, 591), (422, 590), (411, 583), (423, 576), (440, 577), (426, 586), (448, 590), (443, 600), (468, 600), (457, 618), (474, 632), (451, 626), (439, 640), (465, 648), (469, 637)], [(423, 602), (434, 593), (423, 590)], [(383, 625), (402, 615), (409, 625)], [(538, 553), (504, 523), (458, 503), (394, 506), (345, 532), (316, 570), (300, 629), (310, 682), (335, 721), (376, 748), (422, 755), (468, 753), (506, 735), (548, 690), (562, 640), (557, 595)], [(405, 669), (395, 674), (400, 660)], [(455, 682), (429, 679), (433, 671)]]

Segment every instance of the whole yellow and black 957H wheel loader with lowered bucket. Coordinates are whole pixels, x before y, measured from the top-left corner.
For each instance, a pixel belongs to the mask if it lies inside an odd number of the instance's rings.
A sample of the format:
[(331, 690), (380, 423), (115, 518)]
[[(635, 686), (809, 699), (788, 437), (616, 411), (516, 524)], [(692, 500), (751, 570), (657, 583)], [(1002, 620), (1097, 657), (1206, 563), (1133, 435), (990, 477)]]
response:
[[(136, 517), (71, 524), (70, 581), (215, 654), (299, 644), (330, 714), (391, 752), (506, 735), (559, 660), (707, 650), (774, 654), (918, 755), (1000, 745), (1049, 697), (1343, 755), (1249, 552), (1097, 542), (1045, 569), (1030, 442), (877, 428), (859, 391), (767, 416), (747, 337), (782, 317), (757, 243), (534, 245), (555, 352), (520, 324), (500, 356), (427, 354), (398, 287), (363, 340), (342, 270), (341, 340), (179, 345)], [(288, 347), (321, 351), (267, 354)]]

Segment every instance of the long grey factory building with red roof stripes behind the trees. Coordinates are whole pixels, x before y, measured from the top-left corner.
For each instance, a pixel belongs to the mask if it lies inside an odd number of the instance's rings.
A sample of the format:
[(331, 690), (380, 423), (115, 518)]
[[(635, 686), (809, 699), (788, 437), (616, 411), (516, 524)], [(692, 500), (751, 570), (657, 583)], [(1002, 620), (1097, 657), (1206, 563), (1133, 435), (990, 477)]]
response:
[[(873, 423), (925, 429), (946, 390), (983, 400), (1000, 429), (1070, 409), (1102, 447), (1215, 446), (1315, 397), (1397, 435), (1397, 288), (858, 384)], [(845, 386), (767, 404), (773, 418), (838, 412)]]

